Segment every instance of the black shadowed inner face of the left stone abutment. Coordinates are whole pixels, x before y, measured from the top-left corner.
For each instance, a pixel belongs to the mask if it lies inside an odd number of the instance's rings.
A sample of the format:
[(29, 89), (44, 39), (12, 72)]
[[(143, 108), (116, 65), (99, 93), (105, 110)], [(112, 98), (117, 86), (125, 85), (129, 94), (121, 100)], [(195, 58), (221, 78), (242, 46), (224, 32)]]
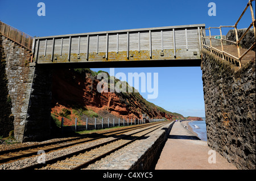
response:
[(45, 140), (51, 134), (52, 70), (30, 66), (32, 84), (27, 87), (29, 100), (22, 142)]

